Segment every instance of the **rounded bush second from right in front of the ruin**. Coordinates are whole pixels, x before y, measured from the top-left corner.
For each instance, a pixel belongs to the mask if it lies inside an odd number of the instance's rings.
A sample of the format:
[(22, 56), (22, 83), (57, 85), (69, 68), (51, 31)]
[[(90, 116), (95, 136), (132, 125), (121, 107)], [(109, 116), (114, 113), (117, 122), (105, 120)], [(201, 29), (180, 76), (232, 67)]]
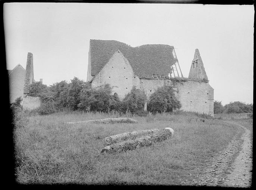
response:
[(133, 86), (131, 91), (124, 97), (121, 103), (122, 111), (138, 113), (139, 111), (142, 111), (145, 100), (145, 92), (140, 89), (136, 89), (136, 86)]

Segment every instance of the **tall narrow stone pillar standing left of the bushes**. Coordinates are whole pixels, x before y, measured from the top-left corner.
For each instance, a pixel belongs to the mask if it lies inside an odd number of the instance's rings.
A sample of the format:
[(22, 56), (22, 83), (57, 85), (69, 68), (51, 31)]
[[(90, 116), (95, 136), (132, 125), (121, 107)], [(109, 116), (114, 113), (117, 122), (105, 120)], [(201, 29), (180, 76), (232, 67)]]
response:
[(31, 85), (32, 82), (35, 82), (34, 68), (33, 68), (33, 54), (28, 52), (25, 79), (24, 79), (24, 89), (23, 89), (24, 97), (29, 94), (29, 85)]

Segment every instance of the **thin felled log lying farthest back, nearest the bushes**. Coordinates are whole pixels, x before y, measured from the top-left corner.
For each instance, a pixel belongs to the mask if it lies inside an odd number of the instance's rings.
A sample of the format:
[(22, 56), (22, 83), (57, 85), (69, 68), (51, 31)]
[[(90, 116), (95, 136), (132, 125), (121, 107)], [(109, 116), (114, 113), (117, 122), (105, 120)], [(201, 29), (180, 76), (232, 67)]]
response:
[(88, 121), (77, 121), (77, 122), (66, 122), (66, 124), (76, 124), (76, 123), (136, 123), (138, 122), (132, 118), (105, 118), (105, 119), (94, 119)]

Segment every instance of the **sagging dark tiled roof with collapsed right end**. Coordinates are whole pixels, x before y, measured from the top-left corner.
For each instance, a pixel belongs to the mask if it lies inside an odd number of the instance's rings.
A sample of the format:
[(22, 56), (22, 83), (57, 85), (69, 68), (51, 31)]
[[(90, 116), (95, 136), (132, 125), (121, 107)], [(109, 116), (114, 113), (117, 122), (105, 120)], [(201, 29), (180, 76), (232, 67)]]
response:
[(153, 74), (168, 77), (175, 60), (173, 46), (153, 44), (131, 47), (116, 40), (90, 40), (91, 75), (96, 75), (118, 49), (131, 64), (139, 78), (153, 78)]

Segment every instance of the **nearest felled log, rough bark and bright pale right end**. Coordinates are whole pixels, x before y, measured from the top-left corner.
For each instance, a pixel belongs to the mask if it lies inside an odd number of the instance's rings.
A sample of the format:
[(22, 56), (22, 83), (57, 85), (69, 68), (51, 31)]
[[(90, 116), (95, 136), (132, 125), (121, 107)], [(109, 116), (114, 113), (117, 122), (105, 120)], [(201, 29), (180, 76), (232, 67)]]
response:
[(129, 140), (120, 142), (117, 144), (109, 145), (101, 150), (101, 153), (114, 153), (126, 150), (133, 150), (135, 148), (149, 146), (153, 142), (166, 140), (168, 137), (173, 137), (174, 130), (170, 127), (164, 128), (164, 130), (158, 134), (139, 138), (137, 140)]

